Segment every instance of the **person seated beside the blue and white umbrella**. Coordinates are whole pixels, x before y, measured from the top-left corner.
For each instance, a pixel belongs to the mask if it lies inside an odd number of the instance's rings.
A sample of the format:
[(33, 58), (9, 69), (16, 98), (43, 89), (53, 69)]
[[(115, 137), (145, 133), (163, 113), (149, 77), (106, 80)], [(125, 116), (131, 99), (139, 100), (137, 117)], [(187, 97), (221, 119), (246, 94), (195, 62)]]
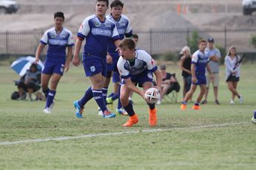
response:
[(41, 72), (38, 71), (36, 64), (33, 63), (30, 66), (30, 69), (27, 70), (26, 74), (21, 77), (18, 81), (16, 81), (16, 85), (18, 86), (18, 99), (26, 99), (28, 93), (28, 97), (30, 101), (32, 101), (32, 93), (36, 92), (40, 88), (41, 83)]

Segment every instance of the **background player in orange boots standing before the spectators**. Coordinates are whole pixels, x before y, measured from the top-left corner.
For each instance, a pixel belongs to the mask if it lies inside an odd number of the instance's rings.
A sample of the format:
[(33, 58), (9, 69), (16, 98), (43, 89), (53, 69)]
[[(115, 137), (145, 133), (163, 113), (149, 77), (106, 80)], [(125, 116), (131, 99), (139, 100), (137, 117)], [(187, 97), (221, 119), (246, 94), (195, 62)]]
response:
[(213, 78), (211, 68), (209, 67), (209, 55), (205, 53), (206, 40), (200, 40), (198, 43), (198, 51), (192, 55), (192, 65), (191, 65), (191, 75), (192, 75), (192, 85), (190, 90), (186, 93), (183, 102), (181, 102), (181, 110), (186, 109), (186, 102), (190, 99), (197, 86), (200, 86), (200, 93), (198, 94), (198, 99), (192, 110), (200, 110), (200, 102), (203, 98), (203, 94), (206, 91), (206, 69), (210, 74), (211, 79)]

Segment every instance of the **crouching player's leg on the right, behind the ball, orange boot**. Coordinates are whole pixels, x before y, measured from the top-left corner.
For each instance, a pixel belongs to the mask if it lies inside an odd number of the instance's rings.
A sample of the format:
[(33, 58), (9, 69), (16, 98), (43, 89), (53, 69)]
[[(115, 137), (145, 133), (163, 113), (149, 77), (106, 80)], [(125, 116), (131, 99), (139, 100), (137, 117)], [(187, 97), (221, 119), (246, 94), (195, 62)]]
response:
[[(142, 86), (143, 86), (144, 91), (146, 91), (147, 89), (153, 87), (153, 83), (152, 82), (144, 82)], [(149, 125), (152, 127), (155, 127), (155, 125), (158, 122), (158, 118), (156, 115), (157, 110), (155, 108), (155, 104), (147, 103), (147, 105), (149, 105)]]

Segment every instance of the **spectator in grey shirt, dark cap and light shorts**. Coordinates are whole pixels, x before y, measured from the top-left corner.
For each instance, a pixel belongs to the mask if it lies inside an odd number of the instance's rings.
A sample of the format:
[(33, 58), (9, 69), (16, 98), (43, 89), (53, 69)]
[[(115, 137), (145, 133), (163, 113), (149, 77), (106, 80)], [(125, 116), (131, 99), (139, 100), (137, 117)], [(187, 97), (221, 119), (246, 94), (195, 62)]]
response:
[[(218, 101), (218, 85), (219, 85), (219, 60), (220, 60), (220, 50), (216, 49), (214, 47), (215, 40), (213, 38), (208, 38), (208, 47), (206, 48), (206, 53), (209, 54), (209, 65), (212, 70), (212, 74), (214, 79), (212, 79), (212, 86), (213, 86), (213, 93), (215, 96), (215, 104), (220, 105), (220, 102)], [(206, 72), (206, 92), (204, 93), (204, 100), (201, 102), (201, 104), (207, 104), (207, 96), (209, 93), (209, 85), (210, 85), (211, 79), (210, 74), (207, 71)]]

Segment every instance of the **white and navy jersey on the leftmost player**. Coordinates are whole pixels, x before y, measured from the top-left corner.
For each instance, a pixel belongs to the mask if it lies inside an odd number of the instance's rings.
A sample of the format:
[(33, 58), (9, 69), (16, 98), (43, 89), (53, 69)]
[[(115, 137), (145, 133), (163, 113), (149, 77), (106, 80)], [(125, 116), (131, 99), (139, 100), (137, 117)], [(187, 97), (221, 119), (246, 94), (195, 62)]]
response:
[(44, 45), (48, 44), (47, 60), (55, 63), (65, 61), (66, 47), (74, 46), (72, 32), (64, 27), (59, 34), (55, 31), (55, 27), (48, 29), (40, 42)]

